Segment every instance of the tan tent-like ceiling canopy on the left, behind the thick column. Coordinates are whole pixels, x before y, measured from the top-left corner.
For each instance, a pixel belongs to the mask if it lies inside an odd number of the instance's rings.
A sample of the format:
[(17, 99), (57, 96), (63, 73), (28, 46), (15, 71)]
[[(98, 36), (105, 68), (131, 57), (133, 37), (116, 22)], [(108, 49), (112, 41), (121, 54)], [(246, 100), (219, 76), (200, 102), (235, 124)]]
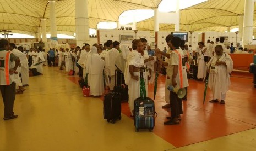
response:
[[(88, 0), (89, 27), (101, 21), (117, 22), (121, 13), (131, 9), (152, 9), (160, 0)], [(0, 30), (35, 35), (40, 19), (46, 18), (50, 31), (49, 5), (45, 0), (0, 0)], [(56, 1), (58, 33), (75, 32), (75, 0)]]

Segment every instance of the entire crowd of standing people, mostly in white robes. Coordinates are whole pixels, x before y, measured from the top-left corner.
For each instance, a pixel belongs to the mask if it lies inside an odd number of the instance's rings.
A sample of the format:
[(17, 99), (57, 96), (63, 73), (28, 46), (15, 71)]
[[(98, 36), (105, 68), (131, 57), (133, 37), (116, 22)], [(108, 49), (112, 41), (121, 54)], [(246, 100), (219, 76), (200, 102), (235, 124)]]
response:
[[(216, 41), (219, 39), (216, 39)], [(169, 108), (171, 117), (167, 117), (165, 125), (179, 124), (181, 120), (182, 99), (187, 100), (186, 96), (179, 98), (175, 92), (169, 91), (168, 86), (177, 88), (186, 88), (188, 90), (188, 77), (190, 65), (198, 65), (199, 80), (204, 80), (209, 74), (209, 87), (213, 92), (213, 100), (210, 102), (219, 102), (225, 104), (226, 92), (230, 85), (230, 73), (233, 69), (233, 61), (224, 50), (224, 40), (220, 42), (205, 45), (198, 43), (198, 49), (195, 52), (189, 50), (184, 40), (172, 35), (166, 36), (168, 49), (161, 51), (155, 45), (150, 48), (145, 38), (133, 40), (132, 50), (126, 45), (120, 47), (120, 43), (112, 40), (102, 44), (85, 44), (81, 49), (61, 48), (59, 51), (50, 49), (47, 53), (42, 47), (38, 49), (31, 48), (28, 53), (23, 52), (23, 48), (18, 50), (15, 44), (7, 40), (0, 40), (1, 57), (1, 77), (0, 88), (5, 104), (4, 119), (17, 118), (13, 112), (13, 102), (15, 99), (15, 83), (18, 85), (17, 91), (23, 92), (24, 86), (28, 86), (28, 70), (36, 68), (40, 74), (43, 74), (43, 65), (48, 62), (48, 66), (55, 66), (56, 59), (60, 70), (69, 72), (74, 70), (79, 77), (84, 80), (87, 78), (90, 86), (91, 95), (99, 97), (104, 94), (105, 88), (113, 91), (115, 86), (115, 70), (120, 69), (124, 73), (125, 84), (128, 85), (129, 108), (130, 113), (134, 115), (133, 101), (140, 97), (139, 91), (139, 69), (147, 68), (144, 72), (146, 84), (146, 93), (148, 83), (154, 83), (157, 64), (166, 68), (165, 101), (163, 108)], [(232, 45), (230, 47), (232, 49)], [(30, 65), (30, 57), (34, 62)], [(8, 61), (7, 61), (8, 60)], [(4, 63), (3, 63), (4, 62)], [(12, 63), (15, 62), (15, 63)], [(8, 64), (8, 66), (6, 66)], [(22, 82), (19, 78), (19, 72), (22, 76)], [(22, 75), (24, 74), (25, 75)], [(7, 76), (8, 74), (8, 76)], [(27, 82), (27, 83), (26, 83)], [(13, 95), (14, 93), (14, 95)], [(10, 97), (14, 96), (14, 97)], [(8, 102), (8, 103), (7, 103)]]

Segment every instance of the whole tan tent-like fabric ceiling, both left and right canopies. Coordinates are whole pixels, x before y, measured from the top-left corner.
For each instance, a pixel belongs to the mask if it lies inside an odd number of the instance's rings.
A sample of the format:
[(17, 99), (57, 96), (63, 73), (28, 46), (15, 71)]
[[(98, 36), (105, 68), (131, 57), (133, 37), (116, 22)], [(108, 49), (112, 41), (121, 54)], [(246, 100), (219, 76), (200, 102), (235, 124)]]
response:
[[(88, 0), (89, 27), (96, 28), (101, 21), (118, 22), (119, 15), (127, 10), (154, 9), (162, 0)], [(35, 35), (40, 19), (46, 18), (50, 31), (49, 5), (45, 0), (0, 0), (0, 30)], [(62, 34), (75, 32), (75, 0), (56, 1), (57, 31)], [(254, 11), (256, 7), (254, 5)], [(227, 26), (237, 28), (239, 15), (244, 11), (244, 0), (209, 0), (181, 10), (181, 31), (220, 31)], [(255, 18), (256, 20), (256, 18)], [(254, 22), (256, 25), (256, 22)], [(139, 30), (154, 30), (154, 18), (140, 21)], [(172, 24), (160, 24), (160, 31), (173, 31)]]

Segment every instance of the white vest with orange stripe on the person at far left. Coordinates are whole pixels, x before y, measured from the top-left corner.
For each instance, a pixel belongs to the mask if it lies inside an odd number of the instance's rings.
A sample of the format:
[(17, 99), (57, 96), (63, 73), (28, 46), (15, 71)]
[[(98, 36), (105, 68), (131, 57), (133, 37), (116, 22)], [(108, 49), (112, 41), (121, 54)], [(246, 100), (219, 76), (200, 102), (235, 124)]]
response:
[(13, 83), (13, 75), (9, 70), (13, 67), (10, 61), (10, 52), (6, 50), (0, 51), (0, 85), (10, 85)]

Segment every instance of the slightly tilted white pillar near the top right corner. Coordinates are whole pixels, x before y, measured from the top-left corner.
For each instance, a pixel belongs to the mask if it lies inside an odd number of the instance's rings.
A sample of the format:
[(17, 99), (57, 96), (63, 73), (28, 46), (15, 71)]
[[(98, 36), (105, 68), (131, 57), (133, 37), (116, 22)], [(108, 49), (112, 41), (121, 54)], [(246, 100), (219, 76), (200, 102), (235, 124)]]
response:
[(253, 11), (254, 11), (254, 0), (245, 0), (243, 34), (242, 34), (243, 47), (246, 44), (252, 44), (252, 41), (253, 41), (253, 38), (252, 38), (253, 37)]

